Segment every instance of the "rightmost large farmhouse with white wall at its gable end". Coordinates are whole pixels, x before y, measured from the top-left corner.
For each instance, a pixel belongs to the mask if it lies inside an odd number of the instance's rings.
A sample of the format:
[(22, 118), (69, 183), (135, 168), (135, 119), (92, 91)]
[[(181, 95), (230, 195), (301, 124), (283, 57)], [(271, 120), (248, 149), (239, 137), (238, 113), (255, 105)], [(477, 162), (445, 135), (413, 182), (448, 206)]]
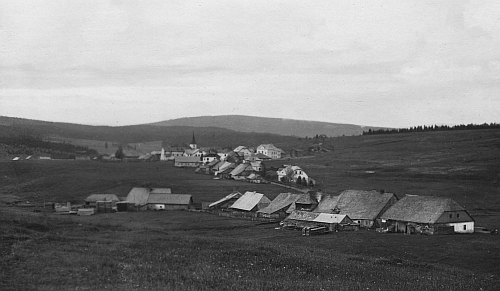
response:
[(429, 229), (453, 228), (457, 233), (473, 233), (474, 219), (450, 198), (406, 195), (389, 208), (381, 218), (396, 232), (412, 233)]

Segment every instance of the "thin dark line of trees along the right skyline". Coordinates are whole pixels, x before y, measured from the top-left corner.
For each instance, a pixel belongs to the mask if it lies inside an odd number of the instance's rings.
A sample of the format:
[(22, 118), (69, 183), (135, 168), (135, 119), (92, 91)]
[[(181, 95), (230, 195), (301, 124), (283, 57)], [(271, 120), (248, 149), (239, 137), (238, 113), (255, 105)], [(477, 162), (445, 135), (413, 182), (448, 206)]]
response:
[(363, 135), (373, 134), (389, 134), (389, 133), (407, 133), (407, 132), (428, 132), (428, 131), (448, 131), (448, 130), (473, 130), (473, 129), (500, 129), (498, 123), (483, 123), (483, 124), (460, 124), (460, 125), (431, 125), (431, 126), (414, 126), (409, 128), (392, 128), (392, 129), (368, 129), (363, 131)]

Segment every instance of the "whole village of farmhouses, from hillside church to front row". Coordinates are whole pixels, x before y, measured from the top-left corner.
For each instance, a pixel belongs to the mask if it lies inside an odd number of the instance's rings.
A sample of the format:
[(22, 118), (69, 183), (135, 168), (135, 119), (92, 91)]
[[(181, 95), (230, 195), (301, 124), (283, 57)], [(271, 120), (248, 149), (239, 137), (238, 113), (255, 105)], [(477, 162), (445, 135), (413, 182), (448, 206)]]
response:
[[(170, 162), (177, 168), (213, 175), (213, 179), (273, 183), (288, 190), (272, 200), (257, 191), (233, 191), (217, 201), (200, 205), (194, 203), (192, 194), (172, 193), (170, 188), (133, 187), (126, 197), (91, 194), (81, 205), (55, 203), (53, 206), (56, 213), (81, 216), (130, 211), (201, 211), (234, 219), (279, 223), (278, 229), (301, 230), (306, 236), (360, 229), (405, 234), (475, 231), (471, 215), (450, 198), (411, 194), (398, 197), (383, 190), (347, 189), (326, 194), (315, 189), (315, 180), (299, 166), (266, 169), (265, 161), (279, 160), (283, 153), (272, 144), (259, 145), (256, 150), (238, 146), (232, 151), (205, 152), (198, 148), (193, 133), (189, 148), (162, 149), (147, 155), (153, 161), (151, 158), (156, 157), (156, 161)], [(481, 228), (476, 230), (480, 232)]]

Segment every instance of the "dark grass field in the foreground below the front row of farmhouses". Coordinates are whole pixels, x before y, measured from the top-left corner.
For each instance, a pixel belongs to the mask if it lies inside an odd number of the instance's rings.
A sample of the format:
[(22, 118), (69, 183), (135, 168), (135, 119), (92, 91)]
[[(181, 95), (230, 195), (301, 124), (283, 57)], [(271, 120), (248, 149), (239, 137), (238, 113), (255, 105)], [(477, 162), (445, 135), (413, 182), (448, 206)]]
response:
[[(360, 231), (302, 237), (276, 225), (199, 212), (73, 217), (2, 210), (2, 290), (500, 287), (498, 236)], [(488, 266), (491, 272), (480, 270)]]

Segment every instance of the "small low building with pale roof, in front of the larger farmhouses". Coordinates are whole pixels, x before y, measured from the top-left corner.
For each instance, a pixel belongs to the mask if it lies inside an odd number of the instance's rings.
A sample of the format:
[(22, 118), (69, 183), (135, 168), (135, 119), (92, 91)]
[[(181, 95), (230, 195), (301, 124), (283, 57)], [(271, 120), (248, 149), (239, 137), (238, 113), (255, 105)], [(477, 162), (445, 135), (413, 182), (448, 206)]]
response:
[(283, 220), (283, 226), (293, 228), (325, 226), (330, 231), (343, 230), (354, 223), (345, 214), (317, 213), (294, 210)]

